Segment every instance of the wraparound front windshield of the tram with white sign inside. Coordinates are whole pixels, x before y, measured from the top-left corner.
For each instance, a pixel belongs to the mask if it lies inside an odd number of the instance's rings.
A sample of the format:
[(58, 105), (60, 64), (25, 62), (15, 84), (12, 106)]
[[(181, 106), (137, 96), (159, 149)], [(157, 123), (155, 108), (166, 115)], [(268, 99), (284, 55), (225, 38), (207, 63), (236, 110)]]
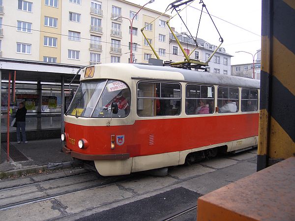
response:
[[(118, 113), (111, 104), (116, 102)], [(66, 114), (76, 117), (126, 117), (129, 114), (130, 89), (116, 80), (82, 82)]]

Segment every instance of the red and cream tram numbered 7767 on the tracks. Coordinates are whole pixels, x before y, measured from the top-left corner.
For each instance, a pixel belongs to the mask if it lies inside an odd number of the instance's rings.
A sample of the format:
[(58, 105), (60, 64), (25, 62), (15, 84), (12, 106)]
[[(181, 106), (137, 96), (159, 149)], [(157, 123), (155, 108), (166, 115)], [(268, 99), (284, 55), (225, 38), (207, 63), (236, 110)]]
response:
[(63, 151), (93, 161), (103, 176), (257, 145), (258, 80), (118, 63), (86, 67), (80, 81), (64, 116)]

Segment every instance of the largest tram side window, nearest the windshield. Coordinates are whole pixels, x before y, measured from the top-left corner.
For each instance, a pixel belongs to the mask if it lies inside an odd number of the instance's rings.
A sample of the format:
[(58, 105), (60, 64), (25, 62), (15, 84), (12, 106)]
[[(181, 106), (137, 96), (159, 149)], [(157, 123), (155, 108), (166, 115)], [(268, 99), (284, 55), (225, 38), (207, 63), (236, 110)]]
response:
[(180, 110), (181, 89), (179, 83), (138, 83), (138, 116), (179, 115)]

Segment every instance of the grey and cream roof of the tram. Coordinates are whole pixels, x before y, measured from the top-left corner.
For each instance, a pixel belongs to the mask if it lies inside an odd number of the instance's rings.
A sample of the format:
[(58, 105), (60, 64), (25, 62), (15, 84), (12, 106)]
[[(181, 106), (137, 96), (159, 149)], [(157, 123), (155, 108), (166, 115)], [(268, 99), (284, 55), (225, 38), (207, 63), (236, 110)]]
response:
[[(220, 74), (212, 74), (208, 72), (192, 71), (181, 68), (163, 67), (145, 64), (127, 64), (127, 63), (112, 63), (112, 64), (98, 64), (97, 66), (118, 69), (117, 73), (125, 72), (124, 78), (128, 78), (128, 74), (132, 79), (142, 80), (161, 80), (161, 81), (174, 81), (174, 82), (188, 82), (188, 83), (206, 83), (239, 87), (252, 87), (260, 88), (260, 81), (249, 78), (242, 78), (236, 76), (227, 76)], [(136, 71), (131, 66), (142, 69), (150, 70), (153, 72), (147, 73), (146, 71)], [(133, 70), (133, 71), (132, 71)], [(158, 73), (157, 73), (158, 72)], [(171, 72), (167, 73), (167, 72)], [(121, 75), (120, 75), (121, 76)], [(115, 76), (114, 76), (115, 77)]]

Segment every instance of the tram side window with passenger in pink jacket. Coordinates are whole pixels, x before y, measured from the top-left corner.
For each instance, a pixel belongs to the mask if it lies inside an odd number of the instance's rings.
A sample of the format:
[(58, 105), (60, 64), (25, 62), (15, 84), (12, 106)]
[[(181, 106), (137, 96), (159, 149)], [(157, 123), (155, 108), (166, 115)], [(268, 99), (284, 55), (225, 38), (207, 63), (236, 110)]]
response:
[(214, 87), (187, 84), (185, 91), (185, 113), (208, 114), (214, 111)]

